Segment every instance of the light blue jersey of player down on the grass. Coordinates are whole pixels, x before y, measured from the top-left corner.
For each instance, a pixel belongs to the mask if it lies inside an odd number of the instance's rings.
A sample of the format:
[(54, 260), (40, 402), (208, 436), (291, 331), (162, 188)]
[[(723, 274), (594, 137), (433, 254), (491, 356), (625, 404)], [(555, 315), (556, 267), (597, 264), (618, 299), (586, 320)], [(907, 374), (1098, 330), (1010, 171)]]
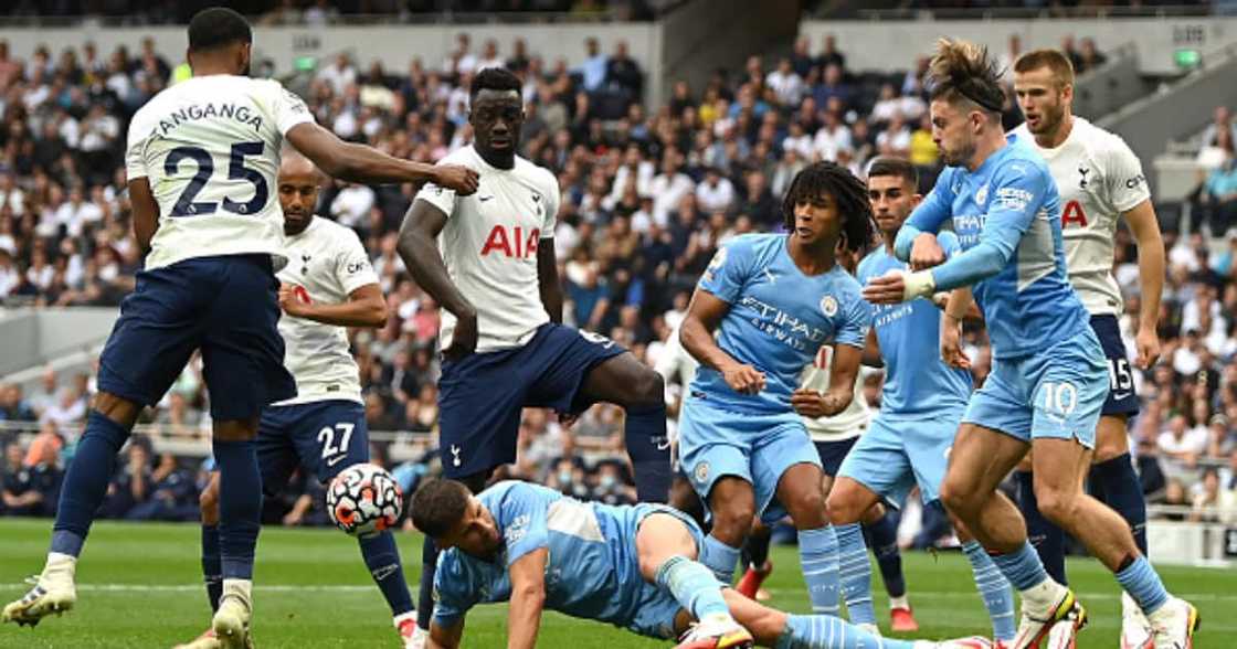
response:
[[(434, 574), (434, 621), (454, 624), (477, 603), (511, 598), (508, 566), (548, 548), (546, 603), (550, 611), (627, 627), (657, 587), (640, 575), (632, 540), (640, 511), (583, 503), (529, 482), (505, 481), (477, 498), (494, 515), (503, 548), (494, 562), (450, 548)], [(625, 539), (631, 535), (631, 539)]]

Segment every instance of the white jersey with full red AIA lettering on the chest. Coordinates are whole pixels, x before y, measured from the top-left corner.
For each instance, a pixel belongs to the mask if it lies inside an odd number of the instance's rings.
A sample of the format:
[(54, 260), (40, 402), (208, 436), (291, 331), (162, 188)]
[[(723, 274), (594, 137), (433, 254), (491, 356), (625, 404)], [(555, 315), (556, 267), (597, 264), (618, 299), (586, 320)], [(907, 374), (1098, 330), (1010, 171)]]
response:
[[(447, 214), (438, 250), (452, 282), (476, 307), (476, 351), (524, 345), (549, 321), (537, 284), (537, 250), (554, 245), (558, 179), (518, 156), (515, 168), (491, 167), (471, 145), (439, 164), (463, 164), (481, 177), (468, 197), (433, 183), (417, 194)], [(443, 309), (443, 349), (454, 330), (455, 316)]]

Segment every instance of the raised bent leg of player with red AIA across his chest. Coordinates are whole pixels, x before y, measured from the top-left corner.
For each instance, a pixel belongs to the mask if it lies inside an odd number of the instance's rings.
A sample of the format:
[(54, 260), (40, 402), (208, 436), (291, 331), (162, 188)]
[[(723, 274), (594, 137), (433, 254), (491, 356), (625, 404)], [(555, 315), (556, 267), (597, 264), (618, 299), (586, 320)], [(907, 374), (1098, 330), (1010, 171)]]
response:
[(542, 403), (548, 398), (548, 405), (568, 413), (583, 412), (597, 402), (622, 407), (623, 440), (637, 497), (641, 502), (667, 502), (674, 473), (662, 375), (597, 334), (568, 326), (552, 326), (544, 334), (544, 341), (534, 339), (529, 346), (558, 350), (562, 361), (547, 367), (529, 396)]

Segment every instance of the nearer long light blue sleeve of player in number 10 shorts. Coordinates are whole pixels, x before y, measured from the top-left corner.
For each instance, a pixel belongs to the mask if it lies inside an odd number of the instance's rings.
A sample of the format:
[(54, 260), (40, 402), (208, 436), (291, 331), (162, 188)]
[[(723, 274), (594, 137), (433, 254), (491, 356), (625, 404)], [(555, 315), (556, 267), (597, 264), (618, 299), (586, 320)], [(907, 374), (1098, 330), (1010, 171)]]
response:
[(1001, 272), (1018, 250), (1022, 235), (1043, 209), (1045, 169), (1016, 161), (993, 174), (992, 203), (980, 231), (980, 242), (933, 268), (936, 291), (971, 286)]

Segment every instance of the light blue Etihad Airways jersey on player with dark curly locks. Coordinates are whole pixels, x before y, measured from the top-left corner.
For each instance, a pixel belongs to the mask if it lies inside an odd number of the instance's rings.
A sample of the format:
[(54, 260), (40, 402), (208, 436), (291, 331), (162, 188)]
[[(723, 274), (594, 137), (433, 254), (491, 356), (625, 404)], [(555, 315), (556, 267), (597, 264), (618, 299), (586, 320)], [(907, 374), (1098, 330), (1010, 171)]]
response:
[(694, 398), (735, 412), (790, 410), (790, 393), (821, 345), (863, 346), (868, 305), (860, 284), (841, 266), (803, 274), (787, 250), (789, 236), (743, 235), (717, 251), (700, 288), (730, 304), (717, 345), (736, 361), (764, 372), (764, 389), (740, 394), (721, 372), (701, 366)]

